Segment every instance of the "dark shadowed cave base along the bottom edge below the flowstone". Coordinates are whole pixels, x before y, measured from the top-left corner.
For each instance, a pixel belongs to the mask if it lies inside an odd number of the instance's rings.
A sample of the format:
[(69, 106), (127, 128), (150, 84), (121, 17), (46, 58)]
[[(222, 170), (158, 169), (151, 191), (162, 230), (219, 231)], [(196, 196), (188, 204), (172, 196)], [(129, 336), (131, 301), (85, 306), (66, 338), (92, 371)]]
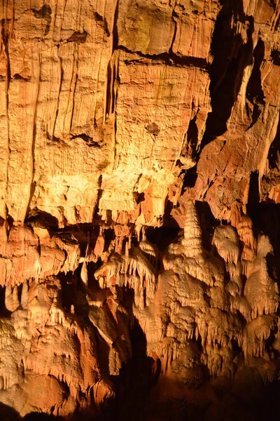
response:
[[(114, 381), (118, 388), (117, 398), (104, 408), (101, 415), (74, 415), (67, 417), (67, 421), (267, 421), (280, 417), (280, 382), (274, 381), (267, 386), (260, 382), (257, 387), (250, 388), (250, 370), (244, 370), (242, 382), (237, 382), (233, 389), (228, 382), (223, 385), (221, 379), (220, 382), (212, 382), (209, 396), (209, 385), (197, 393), (195, 389), (188, 389), (183, 384), (180, 387), (178, 383), (167, 380), (156, 387), (149, 398), (154, 382), (145, 377), (145, 368), (150, 373), (149, 364), (142, 364), (139, 369), (134, 363), (134, 369), (130, 366), (130, 373), (123, 370), (123, 381), (119, 384)], [(160, 366), (157, 369), (160, 370)], [(132, 377), (132, 374), (139, 377)], [(160, 399), (160, 395), (165, 395), (165, 399)], [(170, 399), (167, 399), (168, 395)], [(22, 418), (13, 408), (1, 403), (0, 419), (66, 421), (64, 417), (45, 413), (29, 413)]]

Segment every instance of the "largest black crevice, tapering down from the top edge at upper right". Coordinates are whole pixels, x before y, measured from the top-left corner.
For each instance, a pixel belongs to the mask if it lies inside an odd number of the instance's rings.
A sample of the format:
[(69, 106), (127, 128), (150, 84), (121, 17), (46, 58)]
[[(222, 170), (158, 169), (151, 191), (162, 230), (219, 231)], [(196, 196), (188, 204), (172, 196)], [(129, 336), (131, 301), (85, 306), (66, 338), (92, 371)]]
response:
[[(233, 22), (246, 25), (247, 41), (235, 33)], [(227, 121), (237, 100), (244, 68), (253, 63), (253, 17), (243, 11), (243, 1), (225, 1), (218, 15), (211, 43), (214, 62), (210, 69), (212, 112), (208, 114), (202, 148), (227, 131)]]

